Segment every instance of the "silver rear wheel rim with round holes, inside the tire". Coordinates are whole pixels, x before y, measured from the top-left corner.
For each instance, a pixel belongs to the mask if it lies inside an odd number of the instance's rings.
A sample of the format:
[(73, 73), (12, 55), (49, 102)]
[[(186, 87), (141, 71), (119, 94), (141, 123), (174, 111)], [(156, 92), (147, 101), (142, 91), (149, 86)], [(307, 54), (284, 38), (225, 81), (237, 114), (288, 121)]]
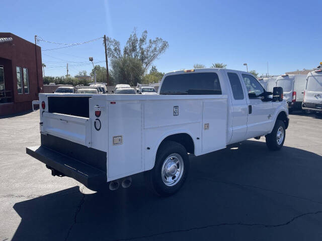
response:
[(161, 169), (164, 184), (169, 187), (176, 185), (181, 180), (183, 171), (184, 164), (182, 157), (177, 153), (169, 155)]

